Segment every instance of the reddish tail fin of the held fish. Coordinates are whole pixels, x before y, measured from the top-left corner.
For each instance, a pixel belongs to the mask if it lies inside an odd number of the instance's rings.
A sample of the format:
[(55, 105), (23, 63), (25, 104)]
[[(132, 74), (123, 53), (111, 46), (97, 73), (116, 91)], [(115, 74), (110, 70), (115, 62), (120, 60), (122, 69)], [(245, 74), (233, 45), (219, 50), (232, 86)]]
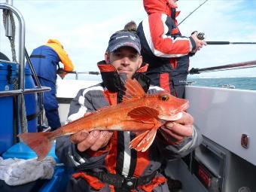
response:
[(23, 133), (20, 139), (38, 155), (38, 160), (43, 160), (52, 147), (51, 138), (54, 133)]

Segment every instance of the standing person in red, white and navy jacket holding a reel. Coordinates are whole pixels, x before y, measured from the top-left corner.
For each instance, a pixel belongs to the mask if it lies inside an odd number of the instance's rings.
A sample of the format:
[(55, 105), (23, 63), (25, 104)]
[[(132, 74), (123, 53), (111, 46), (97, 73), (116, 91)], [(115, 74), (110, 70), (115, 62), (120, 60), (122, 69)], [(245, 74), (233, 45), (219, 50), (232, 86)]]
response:
[(139, 23), (137, 34), (142, 44), (143, 61), (149, 64), (151, 84), (184, 97), (189, 56), (206, 45), (197, 32), (184, 37), (178, 29), (176, 0), (144, 0), (148, 17)]

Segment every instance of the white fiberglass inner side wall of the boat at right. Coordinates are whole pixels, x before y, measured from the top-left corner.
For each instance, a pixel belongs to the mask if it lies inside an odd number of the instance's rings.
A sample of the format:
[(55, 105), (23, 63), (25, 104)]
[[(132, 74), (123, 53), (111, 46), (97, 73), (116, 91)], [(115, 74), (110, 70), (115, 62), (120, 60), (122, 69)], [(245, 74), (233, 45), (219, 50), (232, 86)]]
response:
[[(204, 136), (256, 165), (256, 91), (191, 86), (186, 99)], [(242, 134), (248, 148), (241, 146)]]

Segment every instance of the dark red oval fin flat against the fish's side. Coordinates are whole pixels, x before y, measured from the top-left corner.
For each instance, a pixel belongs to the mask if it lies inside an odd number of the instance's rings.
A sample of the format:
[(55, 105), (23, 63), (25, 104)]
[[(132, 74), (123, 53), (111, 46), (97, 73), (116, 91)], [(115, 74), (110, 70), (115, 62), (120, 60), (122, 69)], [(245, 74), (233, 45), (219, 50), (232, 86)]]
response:
[(130, 116), (133, 119), (145, 120), (145, 119), (156, 118), (158, 114), (159, 112), (157, 111), (157, 109), (149, 108), (149, 107), (138, 107), (130, 111), (128, 113), (128, 116)]

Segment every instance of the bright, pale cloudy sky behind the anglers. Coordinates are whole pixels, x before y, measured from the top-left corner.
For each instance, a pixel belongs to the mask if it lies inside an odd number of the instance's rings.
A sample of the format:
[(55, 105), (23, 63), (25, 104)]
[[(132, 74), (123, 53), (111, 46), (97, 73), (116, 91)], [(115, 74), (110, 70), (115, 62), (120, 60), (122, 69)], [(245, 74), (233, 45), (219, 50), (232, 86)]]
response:
[[(0, 0), (0, 2), (5, 2)], [(180, 0), (181, 21), (204, 0)], [(146, 17), (142, 0), (14, 0), (26, 23), (29, 54), (47, 39), (58, 39), (69, 53), (76, 71), (98, 71), (108, 38), (130, 20), (139, 24)], [(182, 35), (197, 30), (206, 41), (256, 41), (256, 1), (209, 0), (181, 24)], [(10, 45), (0, 20), (0, 51), (11, 58)], [(18, 23), (16, 23), (18, 25)], [(256, 60), (255, 45), (208, 45), (190, 59), (190, 68), (206, 68)], [(212, 72), (206, 76), (256, 76), (255, 69)]]

